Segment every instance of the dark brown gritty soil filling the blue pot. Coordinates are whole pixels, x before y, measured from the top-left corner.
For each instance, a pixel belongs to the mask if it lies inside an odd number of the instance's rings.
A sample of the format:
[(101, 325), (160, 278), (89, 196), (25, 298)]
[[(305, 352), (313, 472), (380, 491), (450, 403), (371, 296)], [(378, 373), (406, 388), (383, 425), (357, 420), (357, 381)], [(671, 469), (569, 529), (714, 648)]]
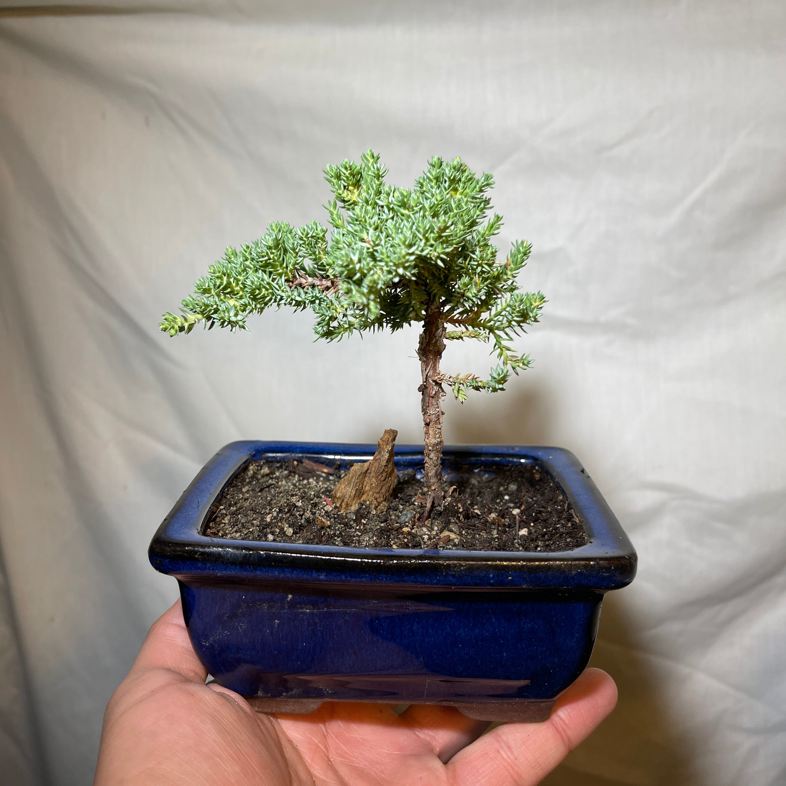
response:
[(567, 551), (586, 534), (560, 487), (538, 465), (468, 467), (445, 481), (446, 501), (423, 523), (424, 484), (399, 472), (376, 510), (342, 513), (330, 494), (347, 470), (314, 461), (252, 461), (211, 509), (212, 538), (393, 549)]

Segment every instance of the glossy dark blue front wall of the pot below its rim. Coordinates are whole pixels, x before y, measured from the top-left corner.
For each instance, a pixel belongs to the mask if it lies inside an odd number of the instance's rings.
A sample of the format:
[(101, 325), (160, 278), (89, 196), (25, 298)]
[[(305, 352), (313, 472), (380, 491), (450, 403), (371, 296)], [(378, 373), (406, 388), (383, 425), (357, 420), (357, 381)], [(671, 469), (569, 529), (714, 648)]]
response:
[(549, 700), (589, 661), (602, 593), (180, 582), (196, 653), (243, 696)]

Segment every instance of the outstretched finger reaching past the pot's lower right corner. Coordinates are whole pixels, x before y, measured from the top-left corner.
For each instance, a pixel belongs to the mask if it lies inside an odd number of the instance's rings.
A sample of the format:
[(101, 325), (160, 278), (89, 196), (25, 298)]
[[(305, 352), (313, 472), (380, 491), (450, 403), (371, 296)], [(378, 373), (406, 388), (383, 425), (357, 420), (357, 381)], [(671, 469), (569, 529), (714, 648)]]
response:
[(586, 669), (543, 723), (509, 723), (460, 751), (447, 765), (451, 786), (534, 786), (559, 764), (617, 703), (614, 680)]

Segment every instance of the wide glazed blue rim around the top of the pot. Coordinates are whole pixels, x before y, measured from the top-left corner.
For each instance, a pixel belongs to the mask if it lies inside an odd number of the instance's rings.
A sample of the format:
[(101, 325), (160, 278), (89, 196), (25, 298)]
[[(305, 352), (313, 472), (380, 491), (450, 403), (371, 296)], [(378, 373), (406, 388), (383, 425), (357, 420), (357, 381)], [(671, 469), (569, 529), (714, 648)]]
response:
[[(445, 446), (451, 461), (483, 465), (538, 463), (560, 485), (582, 523), (586, 545), (560, 552), (362, 549), (211, 538), (201, 534), (226, 483), (248, 463), (309, 457), (368, 461), (375, 445), (241, 440), (224, 447), (204, 468), (152, 538), (157, 571), (189, 583), (399, 583), (477, 589), (619, 589), (633, 581), (637, 556), (630, 539), (586, 470), (570, 450), (549, 446)], [(399, 467), (423, 465), (423, 446), (395, 446)]]

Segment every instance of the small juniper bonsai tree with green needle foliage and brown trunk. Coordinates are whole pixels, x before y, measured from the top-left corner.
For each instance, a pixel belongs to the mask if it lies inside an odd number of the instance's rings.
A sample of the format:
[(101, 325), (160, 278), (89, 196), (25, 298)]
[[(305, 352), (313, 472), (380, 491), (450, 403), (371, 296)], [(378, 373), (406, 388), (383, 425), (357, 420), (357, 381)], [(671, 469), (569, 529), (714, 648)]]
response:
[[(516, 282), (529, 243), (513, 243), (498, 259), (491, 241), (502, 219), (488, 217), (490, 174), (477, 177), (461, 159), (439, 157), (412, 189), (389, 185), (386, 174), (371, 150), (361, 163), (327, 167), (335, 197), (326, 205), (330, 230), (315, 221), (299, 229), (276, 222), (260, 240), (227, 248), (182, 301), (182, 314), (164, 314), (160, 328), (170, 336), (198, 322), (244, 330), (250, 315), (281, 306), (313, 310), (314, 332), (328, 341), (420, 323), (425, 519), (443, 504), (443, 386), (460, 402), (468, 391), (504, 390), (531, 363), (511, 340), (538, 321), (545, 299)], [(445, 342), (465, 339), (491, 344), (498, 365), (488, 379), (441, 369)]]

